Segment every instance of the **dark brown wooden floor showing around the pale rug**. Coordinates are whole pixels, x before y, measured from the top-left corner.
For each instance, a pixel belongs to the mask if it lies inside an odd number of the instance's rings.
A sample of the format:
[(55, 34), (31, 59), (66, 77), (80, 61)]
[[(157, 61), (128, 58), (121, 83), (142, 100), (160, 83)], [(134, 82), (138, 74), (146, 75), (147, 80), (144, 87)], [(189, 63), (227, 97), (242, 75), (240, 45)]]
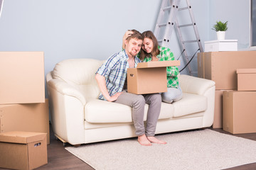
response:
[[(228, 132), (223, 131), (222, 129), (212, 129), (212, 130), (230, 134)], [(235, 136), (244, 137), (244, 138), (256, 141), (256, 133), (240, 134)], [(67, 147), (68, 146), (70, 145), (67, 145)], [(37, 170), (45, 170), (45, 169), (93, 170), (91, 166), (89, 166), (85, 162), (82, 162), (80, 159), (73, 156), (73, 154), (70, 154), (70, 152), (65, 150), (65, 147), (63, 147), (63, 142), (61, 142), (60, 140), (56, 140), (51, 128), (50, 128), (50, 145), (48, 145), (48, 164), (39, 167)], [(230, 168), (228, 170), (245, 170), (245, 169), (247, 170), (256, 169), (256, 163), (237, 166), (237, 167)], [(1, 169), (1, 170), (4, 170), (4, 169)]]

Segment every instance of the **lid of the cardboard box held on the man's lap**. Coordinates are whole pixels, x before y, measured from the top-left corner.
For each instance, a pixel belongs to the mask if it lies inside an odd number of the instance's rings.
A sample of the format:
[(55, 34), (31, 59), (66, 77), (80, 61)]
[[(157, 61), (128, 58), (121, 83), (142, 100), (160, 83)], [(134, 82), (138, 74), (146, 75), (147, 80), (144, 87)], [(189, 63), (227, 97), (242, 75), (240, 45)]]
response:
[(179, 66), (181, 65), (181, 61), (173, 60), (173, 61), (161, 61), (161, 62), (140, 62), (137, 65), (138, 69), (142, 68), (151, 68), (151, 67), (169, 67), (169, 66)]

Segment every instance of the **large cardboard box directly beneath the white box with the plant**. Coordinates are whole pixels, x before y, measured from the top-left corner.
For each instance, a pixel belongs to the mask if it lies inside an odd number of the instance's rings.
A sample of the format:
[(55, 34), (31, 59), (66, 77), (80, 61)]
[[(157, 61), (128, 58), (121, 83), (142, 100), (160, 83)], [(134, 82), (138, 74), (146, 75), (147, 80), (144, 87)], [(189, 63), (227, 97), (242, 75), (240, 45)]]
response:
[(215, 81), (216, 90), (236, 90), (236, 70), (256, 68), (255, 56), (256, 51), (199, 52), (198, 77)]

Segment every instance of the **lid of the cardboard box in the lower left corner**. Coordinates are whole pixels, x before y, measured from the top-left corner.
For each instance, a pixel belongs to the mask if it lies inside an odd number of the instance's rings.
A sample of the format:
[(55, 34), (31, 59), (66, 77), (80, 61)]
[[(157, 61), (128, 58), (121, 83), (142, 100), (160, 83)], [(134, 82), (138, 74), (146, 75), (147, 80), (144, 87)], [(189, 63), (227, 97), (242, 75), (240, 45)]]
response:
[(46, 133), (12, 131), (0, 134), (0, 142), (31, 143), (46, 138)]

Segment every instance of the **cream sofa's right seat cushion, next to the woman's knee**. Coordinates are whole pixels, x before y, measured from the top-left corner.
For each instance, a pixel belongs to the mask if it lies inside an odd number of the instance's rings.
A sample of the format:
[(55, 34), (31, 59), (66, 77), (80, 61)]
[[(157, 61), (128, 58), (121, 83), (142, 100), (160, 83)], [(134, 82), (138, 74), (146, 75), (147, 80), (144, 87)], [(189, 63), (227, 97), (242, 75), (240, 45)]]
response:
[(207, 98), (198, 94), (183, 93), (180, 101), (174, 102), (174, 117), (206, 111)]

